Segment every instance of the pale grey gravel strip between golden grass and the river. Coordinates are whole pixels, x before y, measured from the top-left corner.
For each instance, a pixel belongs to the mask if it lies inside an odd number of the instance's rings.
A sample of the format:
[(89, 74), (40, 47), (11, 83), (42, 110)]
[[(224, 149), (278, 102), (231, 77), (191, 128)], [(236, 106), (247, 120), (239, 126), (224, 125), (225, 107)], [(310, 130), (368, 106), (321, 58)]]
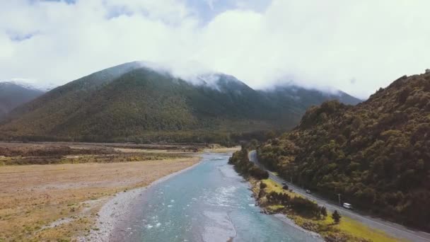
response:
[(170, 173), (169, 175), (159, 178), (144, 187), (118, 192), (100, 208), (98, 219), (95, 221), (95, 228), (91, 230), (91, 233), (87, 236), (81, 236), (78, 238), (78, 241), (109, 241), (110, 235), (112, 231), (114, 231), (115, 226), (119, 224), (120, 221), (127, 219), (129, 214), (134, 212), (131, 211), (130, 208), (133, 207), (132, 204), (136, 201), (136, 197), (141, 196), (142, 193), (148, 188), (151, 188), (151, 186), (173, 178), (173, 176), (188, 171), (197, 165), (199, 165), (199, 162), (180, 171)]

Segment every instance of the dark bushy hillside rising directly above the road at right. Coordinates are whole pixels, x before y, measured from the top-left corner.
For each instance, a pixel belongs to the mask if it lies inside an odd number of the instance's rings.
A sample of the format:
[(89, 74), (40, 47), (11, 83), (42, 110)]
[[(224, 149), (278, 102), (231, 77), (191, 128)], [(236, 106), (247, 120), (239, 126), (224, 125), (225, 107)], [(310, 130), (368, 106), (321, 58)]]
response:
[(402, 76), (355, 106), (310, 108), (257, 155), (325, 197), (430, 230), (430, 73)]

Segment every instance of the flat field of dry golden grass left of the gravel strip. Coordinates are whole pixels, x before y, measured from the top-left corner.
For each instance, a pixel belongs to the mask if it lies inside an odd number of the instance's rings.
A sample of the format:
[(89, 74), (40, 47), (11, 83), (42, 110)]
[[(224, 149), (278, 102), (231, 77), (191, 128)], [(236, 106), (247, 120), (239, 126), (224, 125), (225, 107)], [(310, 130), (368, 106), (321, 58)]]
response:
[(0, 241), (69, 241), (86, 234), (108, 195), (149, 185), (198, 159), (1, 166)]

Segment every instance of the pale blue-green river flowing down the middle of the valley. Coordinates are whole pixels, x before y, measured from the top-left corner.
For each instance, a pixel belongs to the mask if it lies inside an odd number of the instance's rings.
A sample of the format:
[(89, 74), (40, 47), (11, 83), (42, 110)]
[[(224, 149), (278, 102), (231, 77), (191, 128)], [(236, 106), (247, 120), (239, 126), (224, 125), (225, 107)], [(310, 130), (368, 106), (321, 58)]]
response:
[(202, 162), (153, 185), (115, 229), (117, 241), (318, 241), (260, 213), (250, 185), (228, 165), (230, 154)]

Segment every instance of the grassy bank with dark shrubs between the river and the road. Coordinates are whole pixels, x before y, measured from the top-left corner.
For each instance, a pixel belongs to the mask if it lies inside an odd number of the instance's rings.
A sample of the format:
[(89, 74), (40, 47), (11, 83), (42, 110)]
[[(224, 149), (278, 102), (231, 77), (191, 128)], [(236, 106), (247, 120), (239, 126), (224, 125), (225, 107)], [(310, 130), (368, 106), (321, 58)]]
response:
[(373, 229), (359, 221), (349, 218), (334, 221), (326, 207), (294, 192), (288, 185), (283, 187), (280, 183), (274, 182), (269, 178), (269, 174), (260, 175), (260, 172), (254, 172), (257, 169), (255, 163), (250, 161), (247, 149), (234, 153), (229, 163), (250, 182), (253, 197), (265, 214), (284, 214), (297, 226), (320, 234), (325, 241), (398, 241), (383, 231)]

